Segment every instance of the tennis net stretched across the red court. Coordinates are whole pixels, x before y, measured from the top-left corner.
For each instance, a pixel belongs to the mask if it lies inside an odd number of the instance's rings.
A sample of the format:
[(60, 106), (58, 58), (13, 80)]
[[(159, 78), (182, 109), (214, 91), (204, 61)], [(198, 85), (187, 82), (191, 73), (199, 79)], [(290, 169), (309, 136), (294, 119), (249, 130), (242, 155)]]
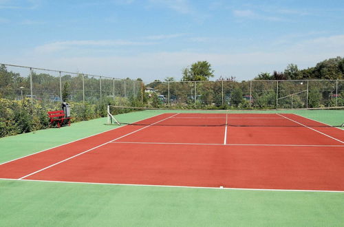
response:
[[(165, 114), (169, 119), (155, 126), (180, 127), (339, 127), (344, 126), (344, 107), (317, 109), (234, 110), (107, 107), (107, 124), (151, 125), (140, 120)], [(139, 120), (138, 120), (139, 119)], [(136, 121), (138, 120), (138, 121)]]

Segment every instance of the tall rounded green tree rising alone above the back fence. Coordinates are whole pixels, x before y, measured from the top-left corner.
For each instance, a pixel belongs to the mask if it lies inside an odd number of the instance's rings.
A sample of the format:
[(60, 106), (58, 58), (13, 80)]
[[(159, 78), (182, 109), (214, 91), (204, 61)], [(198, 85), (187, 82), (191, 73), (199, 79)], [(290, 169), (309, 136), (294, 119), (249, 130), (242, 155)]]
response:
[(207, 61), (197, 61), (193, 63), (191, 67), (183, 69), (182, 81), (202, 81), (209, 80), (214, 77), (214, 70), (211, 68), (211, 64)]

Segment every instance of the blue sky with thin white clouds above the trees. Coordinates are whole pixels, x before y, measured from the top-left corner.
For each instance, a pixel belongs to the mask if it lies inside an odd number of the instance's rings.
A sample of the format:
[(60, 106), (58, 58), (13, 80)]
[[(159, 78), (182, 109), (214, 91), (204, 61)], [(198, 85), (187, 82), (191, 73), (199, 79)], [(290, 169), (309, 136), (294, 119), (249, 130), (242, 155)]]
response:
[(0, 63), (146, 81), (237, 80), (344, 56), (344, 1), (0, 0)]

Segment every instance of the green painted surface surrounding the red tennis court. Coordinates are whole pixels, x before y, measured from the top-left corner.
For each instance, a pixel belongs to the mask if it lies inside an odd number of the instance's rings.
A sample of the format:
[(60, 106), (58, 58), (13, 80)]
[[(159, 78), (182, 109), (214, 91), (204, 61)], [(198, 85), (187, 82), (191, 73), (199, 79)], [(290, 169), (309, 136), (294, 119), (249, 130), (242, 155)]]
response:
[[(344, 120), (344, 111), (261, 112), (294, 113), (329, 125)], [(117, 117), (135, 122), (161, 113)], [(0, 163), (116, 127), (105, 123), (100, 118), (0, 138)], [(0, 226), (343, 226), (343, 213), (344, 193), (0, 180)]]

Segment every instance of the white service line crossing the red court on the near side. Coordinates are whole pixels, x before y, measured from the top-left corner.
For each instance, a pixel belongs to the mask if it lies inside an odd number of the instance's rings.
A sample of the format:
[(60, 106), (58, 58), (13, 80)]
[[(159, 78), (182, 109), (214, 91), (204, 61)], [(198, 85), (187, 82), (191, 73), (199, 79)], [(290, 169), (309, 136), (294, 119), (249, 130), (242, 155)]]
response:
[(204, 144), (192, 142), (111, 142), (111, 144), (171, 144), (171, 145), (215, 145), (215, 146), (261, 146), (261, 147), (344, 147), (344, 145), (325, 144)]

